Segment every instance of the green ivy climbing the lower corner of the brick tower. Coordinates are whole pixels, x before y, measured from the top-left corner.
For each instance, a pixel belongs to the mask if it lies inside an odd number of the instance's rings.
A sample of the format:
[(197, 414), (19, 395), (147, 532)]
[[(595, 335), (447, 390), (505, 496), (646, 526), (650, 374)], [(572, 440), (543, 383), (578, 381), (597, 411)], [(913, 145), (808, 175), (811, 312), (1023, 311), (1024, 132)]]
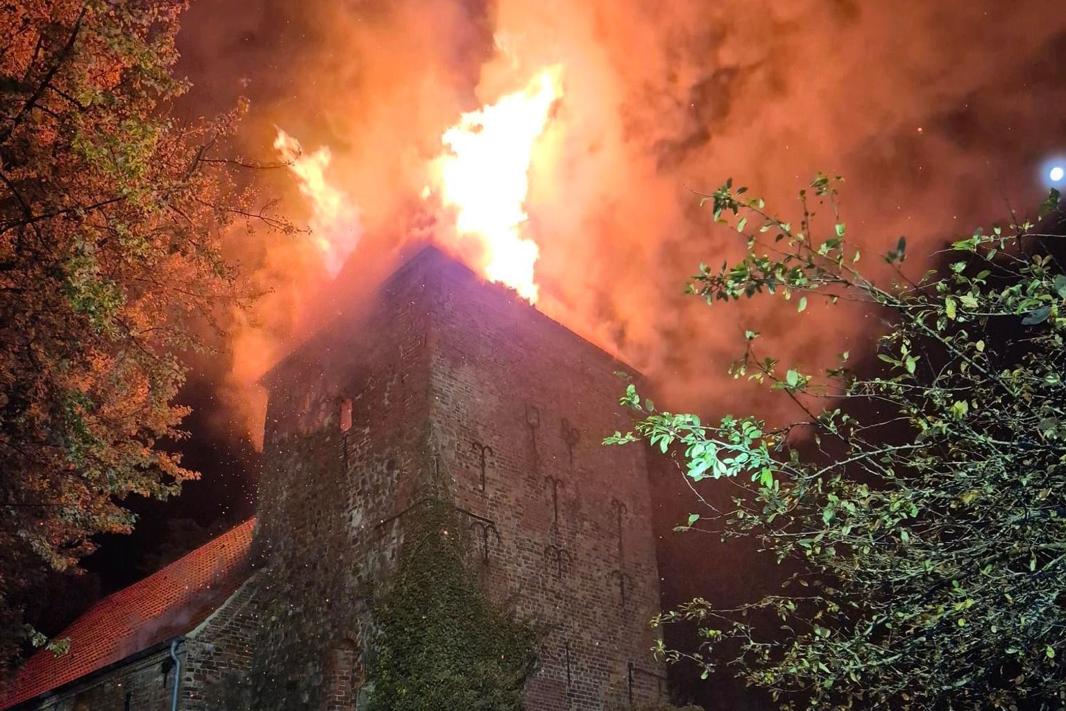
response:
[(368, 711), (521, 710), (540, 634), (485, 596), (462, 530), (435, 503), (406, 534), (377, 612)]

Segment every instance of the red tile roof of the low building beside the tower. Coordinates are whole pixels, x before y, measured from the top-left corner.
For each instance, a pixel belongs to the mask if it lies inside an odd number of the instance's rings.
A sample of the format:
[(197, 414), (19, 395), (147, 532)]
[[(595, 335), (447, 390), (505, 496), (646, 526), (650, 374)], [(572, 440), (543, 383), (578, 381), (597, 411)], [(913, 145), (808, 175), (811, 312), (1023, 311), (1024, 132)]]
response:
[(254, 526), (248, 519), (94, 604), (58, 635), (70, 651), (33, 655), (0, 693), (0, 710), (192, 631), (247, 578)]

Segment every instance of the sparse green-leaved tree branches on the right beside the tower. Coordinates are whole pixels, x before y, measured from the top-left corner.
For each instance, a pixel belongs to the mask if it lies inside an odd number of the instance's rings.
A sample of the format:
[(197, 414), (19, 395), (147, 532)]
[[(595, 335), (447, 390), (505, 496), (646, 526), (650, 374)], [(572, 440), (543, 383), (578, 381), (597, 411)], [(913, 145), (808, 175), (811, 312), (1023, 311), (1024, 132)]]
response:
[[(838, 181), (819, 176), (801, 193), (798, 228), (731, 182), (707, 196), (748, 248), (736, 264), (700, 265), (689, 291), (708, 304), (801, 296), (801, 311), (815, 297), (865, 303), (888, 324), (873, 365), (853, 370), (842, 353), (804, 372), (760, 357), (747, 332), (732, 375), (791, 400), (797, 422), (702, 423), (656, 411), (630, 387), (634, 432), (605, 440), (647, 440), (696, 482), (732, 479), (747, 490), (724, 516), (727, 534), (756, 536), (800, 569), (762, 600), (696, 599), (662, 615), (698, 625), (702, 646), (660, 653), (706, 675), (723, 645), (739, 649), (744, 678), (782, 708), (1060, 709), (1066, 274), (1049, 245), (1063, 238), (1029, 223), (978, 230), (917, 281), (901, 271), (901, 238), (883, 286), (858, 270)], [(812, 201), (831, 214), (828, 237), (815, 235)], [(679, 528), (715, 516), (708, 506)]]

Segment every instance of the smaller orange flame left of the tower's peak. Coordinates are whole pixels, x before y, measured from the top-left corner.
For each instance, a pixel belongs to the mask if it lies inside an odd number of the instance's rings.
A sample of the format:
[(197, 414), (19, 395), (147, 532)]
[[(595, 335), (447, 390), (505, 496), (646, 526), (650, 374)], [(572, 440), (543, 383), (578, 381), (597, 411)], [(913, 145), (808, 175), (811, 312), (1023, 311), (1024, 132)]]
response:
[(326, 178), (330, 153), (323, 146), (305, 155), (300, 141), (277, 129), (274, 149), (289, 164), (311, 208), (311, 240), (329, 276), (337, 276), (359, 241), (359, 210)]

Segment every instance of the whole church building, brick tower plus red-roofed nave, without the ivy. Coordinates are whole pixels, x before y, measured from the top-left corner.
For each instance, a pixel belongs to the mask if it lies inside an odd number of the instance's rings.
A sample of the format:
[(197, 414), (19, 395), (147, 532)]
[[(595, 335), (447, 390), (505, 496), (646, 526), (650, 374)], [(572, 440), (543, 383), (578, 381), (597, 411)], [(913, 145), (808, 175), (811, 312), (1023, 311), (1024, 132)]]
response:
[(528, 711), (665, 697), (645, 453), (600, 445), (625, 366), (433, 247), (374, 293), (266, 376), (257, 517), (94, 604), (0, 709), (358, 711), (430, 503), (546, 630)]

